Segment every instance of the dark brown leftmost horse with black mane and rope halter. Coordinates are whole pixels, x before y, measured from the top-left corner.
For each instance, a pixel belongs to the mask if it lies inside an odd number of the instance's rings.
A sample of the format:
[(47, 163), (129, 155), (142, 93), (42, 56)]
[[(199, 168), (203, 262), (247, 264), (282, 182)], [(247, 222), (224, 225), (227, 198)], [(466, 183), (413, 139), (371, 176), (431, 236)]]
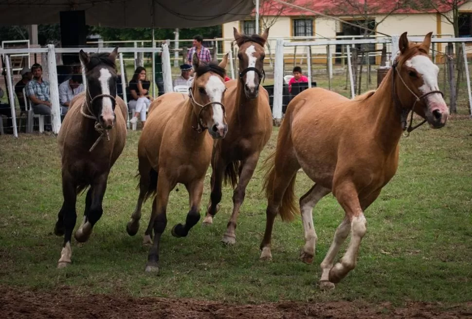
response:
[(64, 235), (59, 268), (72, 262), (71, 237), (77, 218), (77, 194), (90, 185), (85, 199), (84, 219), (74, 235), (78, 242), (85, 242), (91, 235), (93, 225), (102, 216), (102, 201), (110, 168), (125, 147), (127, 107), (116, 96), (117, 52), (118, 48), (110, 54), (89, 56), (83, 50), (79, 52), (85, 66), (87, 89), (71, 101), (57, 136), (62, 156), (64, 196), (54, 228), (56, 235)]

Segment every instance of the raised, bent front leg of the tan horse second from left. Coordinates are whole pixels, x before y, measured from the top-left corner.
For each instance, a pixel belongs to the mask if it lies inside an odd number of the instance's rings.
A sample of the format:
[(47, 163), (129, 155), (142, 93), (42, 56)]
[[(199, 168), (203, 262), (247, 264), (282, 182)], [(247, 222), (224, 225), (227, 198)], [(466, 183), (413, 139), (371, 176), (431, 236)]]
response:
[(187, 218), (185, 218), (185, 224), (177, 224), (172, 228), (171, 233), (174, 237), (185, 237), (190, 229), (200, 220), (200, 201), (203, 193), (204, 179), (205, 177), (194, 181), (188, 186), (185, 185), (188, 191), (190, 210), (188, 211)]

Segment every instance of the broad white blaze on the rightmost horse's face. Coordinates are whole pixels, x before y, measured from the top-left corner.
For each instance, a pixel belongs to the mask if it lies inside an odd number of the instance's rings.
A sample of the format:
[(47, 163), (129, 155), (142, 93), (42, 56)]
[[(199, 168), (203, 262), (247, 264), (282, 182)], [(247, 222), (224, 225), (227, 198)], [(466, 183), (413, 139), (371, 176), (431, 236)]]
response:
[[(439, 73), (439, 67), (437, 67), (431, 60), (425, 55), (415, 55), (405, 63), (408, 67), (414, 68), (423, 79), (423, 85), (418, 87), (421, 94), (426, 94), (431, 91), (439, 91), (437, 84), (437, 75)], [(439, 93), (432, 93), (425, 97), (430, 103), (441, 103), (446, 102)]]

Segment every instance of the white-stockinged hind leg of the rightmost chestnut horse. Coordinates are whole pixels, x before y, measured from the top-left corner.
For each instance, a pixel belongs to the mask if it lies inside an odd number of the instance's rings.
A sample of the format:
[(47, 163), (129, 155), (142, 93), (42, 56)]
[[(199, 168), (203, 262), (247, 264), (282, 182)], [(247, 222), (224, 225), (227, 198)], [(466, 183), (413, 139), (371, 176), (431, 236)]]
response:
[(302, 215), (303, 229), (305, 231), (305, 246), (303, 246), (299, 258), (304, 263), (311, 264), (313, 262), (316, 241), (318, 240), (313, 225), (313, 207), (330, 192), (331, 190), (329, 188), (315, 184), (300, 198), (300, 212)]

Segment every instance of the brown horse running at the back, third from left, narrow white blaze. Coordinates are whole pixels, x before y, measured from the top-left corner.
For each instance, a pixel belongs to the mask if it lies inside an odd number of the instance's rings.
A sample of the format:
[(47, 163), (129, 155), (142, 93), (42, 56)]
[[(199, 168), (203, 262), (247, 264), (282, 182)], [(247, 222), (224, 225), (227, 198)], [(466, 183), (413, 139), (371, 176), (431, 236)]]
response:
[[(272, 112), (269, 94), (260, 85), (264, 74), (264, 44), (269, 29), (262, 36), (239, 34), (234, 36), (239, 47), (239, 79), (226, 82), (228, 92), (225, 106), (229, 132), (216, 141), (212, 155), (211, 195), (203, 224), (212, 224), (219, 210), (223, 177), (233, 186), (233, 214), (222, 242), (236, 243), (236, 220), (244, 201), (246, 186), (253, 176), (259, 154), (272, 134)], [(239, 177), (239, 181), (238, 181)]]

